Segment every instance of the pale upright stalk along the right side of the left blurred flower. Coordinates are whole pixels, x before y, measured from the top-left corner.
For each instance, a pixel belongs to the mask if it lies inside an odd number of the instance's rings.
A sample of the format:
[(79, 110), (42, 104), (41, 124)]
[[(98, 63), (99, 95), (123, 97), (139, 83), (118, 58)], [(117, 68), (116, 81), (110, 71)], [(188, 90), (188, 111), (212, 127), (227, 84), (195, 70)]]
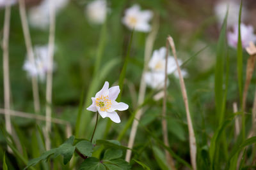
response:
[(49, 1), (50, 8), (50, 27), (49, 27), (49, 66), (50, 69), (47, 71), (47, 79), (46, 79), (46, 138), (45, 146), (46, 149), (49, 150), (51, 146), (51, 141), (49, 139), (49, 133), (51, 132), (51, 104), (52, 104), (52, 69), (53, 69), (53, 55), (54, 55), (54, 38), (55, 38), (55, 9), (54, 9), (54, 1)]

